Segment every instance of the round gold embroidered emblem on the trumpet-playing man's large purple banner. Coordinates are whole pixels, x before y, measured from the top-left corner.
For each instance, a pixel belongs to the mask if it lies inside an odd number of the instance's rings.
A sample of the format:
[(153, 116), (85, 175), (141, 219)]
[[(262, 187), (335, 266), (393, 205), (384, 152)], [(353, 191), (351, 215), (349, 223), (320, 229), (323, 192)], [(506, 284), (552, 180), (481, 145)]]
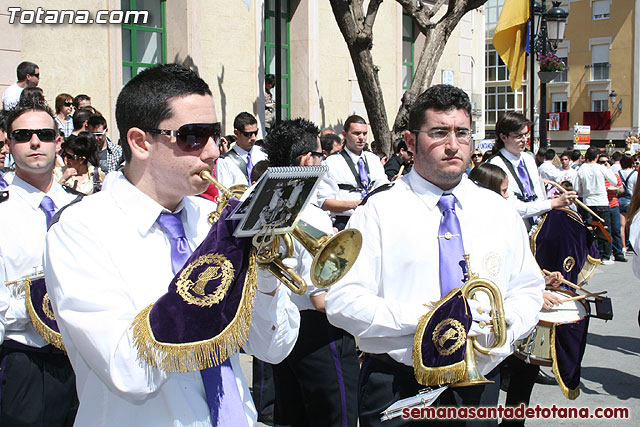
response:
[[(195, 283), (189, 279), (194, 269), (207, 264), (211, 265), (198, 275)], [(231, 286), (231, 282), (233, 282), (234, 274), (233, 264), (224, 255), (207, 254), (182, 269), (180, 277), (176, 281), (176, 288), (178, 294), (187, 303), (198, 307), (212, 307), (224, 298), (229, 286)], [(209, 282), (218, 279), (220, 280), (219, 286), (213, 293), (207, 294), (205, 286)]]

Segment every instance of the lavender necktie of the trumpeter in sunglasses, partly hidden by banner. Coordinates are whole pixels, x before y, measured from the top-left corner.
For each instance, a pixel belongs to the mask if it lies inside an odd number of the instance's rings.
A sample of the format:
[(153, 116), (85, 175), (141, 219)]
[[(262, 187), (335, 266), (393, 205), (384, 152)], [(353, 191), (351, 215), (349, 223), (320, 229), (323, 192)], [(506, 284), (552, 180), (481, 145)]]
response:
[[(171, 264), (177, 274), (191, 255), (191, 248), (184, 233), (182, 211), (161, 213), (158, 224), (171, 239)], [(204, 392), (209, 405), (211, 422), (214, 426), (246, 425), (244, 405), (236, 384), (231, 363), (227, 359), (222, 365), (200, 371)]]

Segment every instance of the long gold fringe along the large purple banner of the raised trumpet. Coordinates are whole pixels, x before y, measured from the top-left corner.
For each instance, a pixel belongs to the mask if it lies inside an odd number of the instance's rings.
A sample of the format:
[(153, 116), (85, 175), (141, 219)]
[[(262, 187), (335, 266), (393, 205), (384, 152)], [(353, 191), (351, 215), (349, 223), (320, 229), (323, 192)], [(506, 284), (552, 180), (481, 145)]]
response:
[(153, 304), (146, 307), (131, 325), (134, 345), (140, 358), (165, 372), (195, 372), (222, 364), (237, 353), (249, 338), (251, 313), (258, 289), (256, 273), (256, 251), (253, 248), (249, 254), (249, 267), (236, 315), (222, 332), (208, 340), (181, 344), (157, 341), (149, 323)]

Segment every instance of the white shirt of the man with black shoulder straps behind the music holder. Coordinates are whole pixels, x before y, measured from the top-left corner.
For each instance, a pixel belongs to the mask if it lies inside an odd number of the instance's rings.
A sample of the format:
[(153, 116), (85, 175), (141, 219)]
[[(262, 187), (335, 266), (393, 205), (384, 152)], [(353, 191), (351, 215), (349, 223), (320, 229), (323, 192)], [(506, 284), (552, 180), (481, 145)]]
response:
[[(364, 157), (366, 164), (369, 165), (369, 181), (371, 182), (371, 190), (389, 182), (387, 174), (384, 173), (384, 166), (380, 162), (380, 158), (371, 151), (362, 151), (358, 156), (351, 152), (347, 147), (343, 150), (351, 157), (353, 164), (358, 171), (358, 160)], [(322, 207), (327, 199), (335, 200), (360, 200), (362, 198), (360, 191), (341, 190), (338, 184), (348, 184), (354, 187), (360, 186), (360, 181), (356, 181), (351, 168), (347, 164), (340, 152), (333, 153), (325, 160), (325, 164), (329, 167), (329, 172), (318, 185), (318, 206)], [(353, 209), (342, 212), (339, 215), (350, 216), (354, 212)]]

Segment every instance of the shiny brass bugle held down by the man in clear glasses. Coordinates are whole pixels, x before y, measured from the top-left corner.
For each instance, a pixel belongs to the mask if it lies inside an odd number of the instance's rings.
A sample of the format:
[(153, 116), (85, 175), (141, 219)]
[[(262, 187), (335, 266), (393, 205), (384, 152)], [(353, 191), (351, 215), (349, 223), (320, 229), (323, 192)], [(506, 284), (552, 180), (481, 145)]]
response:
[(491, 349), (502, 347), (507, 341), (507, 323), (504, 316), (504, 308), (502, 307), (502, 294), (498, 286), (490, 280), (481, 279), (477, 274), (471, 272), (469, 263), (469, 255), (464, 255), (467, 263), (467, 274), (469, 279), (462, 286), (462, 295), (465, 298), (473, 298), (478, 291), (482, 291), (489, 297), (491, 305), (491, 325), (493, 327), (493, 335), (495, 342), (490, 348), (478, 344), (475, 337), (467, 337), (467, 348), (464, 355), (464, 361), (467, 365), (467, 372), (462, 381), (451, 384), (450, 387), (468, 387), (478, 384), (490, 384), (493, 381), (487, 380), (478, 369), (474, 349), (480, 353), (489, 354)]

